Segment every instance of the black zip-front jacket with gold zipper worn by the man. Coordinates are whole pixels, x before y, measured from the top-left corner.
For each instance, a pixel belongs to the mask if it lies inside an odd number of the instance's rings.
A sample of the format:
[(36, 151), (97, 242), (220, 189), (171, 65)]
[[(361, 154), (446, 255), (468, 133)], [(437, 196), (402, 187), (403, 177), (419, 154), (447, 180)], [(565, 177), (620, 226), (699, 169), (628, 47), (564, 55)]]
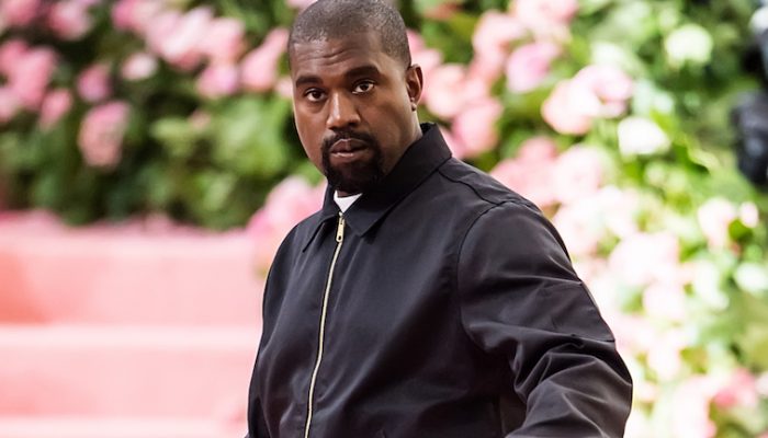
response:
[(631, 378), (557, 232), (423, 129), (278, 251), (250, 438), (621, 437)]

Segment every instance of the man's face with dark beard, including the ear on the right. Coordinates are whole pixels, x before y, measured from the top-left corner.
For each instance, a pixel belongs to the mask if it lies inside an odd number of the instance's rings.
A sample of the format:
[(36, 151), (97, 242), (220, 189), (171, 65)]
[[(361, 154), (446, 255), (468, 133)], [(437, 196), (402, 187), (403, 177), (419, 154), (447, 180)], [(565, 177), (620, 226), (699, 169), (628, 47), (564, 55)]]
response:
[(291, 78), (304, 150), (341, 195), (377, 184), (420, 135), (421, 70), (373, 33), (295, 44)]

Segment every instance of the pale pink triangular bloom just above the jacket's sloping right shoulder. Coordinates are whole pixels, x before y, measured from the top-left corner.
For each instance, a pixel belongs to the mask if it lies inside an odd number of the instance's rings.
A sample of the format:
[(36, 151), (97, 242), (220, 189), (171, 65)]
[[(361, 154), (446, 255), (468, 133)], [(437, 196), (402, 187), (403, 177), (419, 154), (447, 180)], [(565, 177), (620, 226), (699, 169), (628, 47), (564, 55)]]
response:
[(556, 157), (551, 138), (533, 137), (520, 145), (516, 159), (501, 161), (490, 175), (539, 207), (547, 207), (555, 203), (552, 172)]

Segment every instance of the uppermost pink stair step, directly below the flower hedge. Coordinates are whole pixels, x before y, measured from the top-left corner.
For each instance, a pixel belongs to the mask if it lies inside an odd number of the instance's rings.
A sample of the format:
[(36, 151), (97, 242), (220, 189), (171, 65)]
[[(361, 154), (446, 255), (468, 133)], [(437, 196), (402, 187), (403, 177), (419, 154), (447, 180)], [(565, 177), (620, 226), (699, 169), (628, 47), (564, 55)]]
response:
[(156, 228), (0, 214), (0, 322), (259, 323), (263, 280), (245, 231)]

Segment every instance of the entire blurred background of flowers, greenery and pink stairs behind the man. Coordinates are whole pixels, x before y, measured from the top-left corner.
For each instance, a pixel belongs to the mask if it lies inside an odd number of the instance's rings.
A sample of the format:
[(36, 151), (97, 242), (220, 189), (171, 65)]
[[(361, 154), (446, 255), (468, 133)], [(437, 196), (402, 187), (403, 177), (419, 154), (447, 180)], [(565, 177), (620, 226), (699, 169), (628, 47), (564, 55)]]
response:
[[(0, 0), (0, 437), (240, 437), (261, 288), (320, 205), (302, 0)], [(768, 437), (768, 5), (403, 0), (419, 114), (537, 203), (626, 437)]]

